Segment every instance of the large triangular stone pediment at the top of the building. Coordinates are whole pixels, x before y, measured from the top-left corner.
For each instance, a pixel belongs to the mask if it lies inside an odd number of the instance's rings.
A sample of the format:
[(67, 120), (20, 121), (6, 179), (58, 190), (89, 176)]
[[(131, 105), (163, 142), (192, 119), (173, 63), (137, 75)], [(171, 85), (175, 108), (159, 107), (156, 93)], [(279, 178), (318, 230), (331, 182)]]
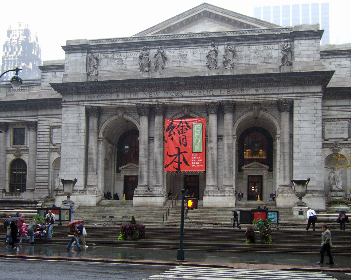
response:
[(134, 36), (274, 27), (279, 27), (279, 25), (203, 3), (184, 13), (176, 15), (173, 18), (141, 31)]

